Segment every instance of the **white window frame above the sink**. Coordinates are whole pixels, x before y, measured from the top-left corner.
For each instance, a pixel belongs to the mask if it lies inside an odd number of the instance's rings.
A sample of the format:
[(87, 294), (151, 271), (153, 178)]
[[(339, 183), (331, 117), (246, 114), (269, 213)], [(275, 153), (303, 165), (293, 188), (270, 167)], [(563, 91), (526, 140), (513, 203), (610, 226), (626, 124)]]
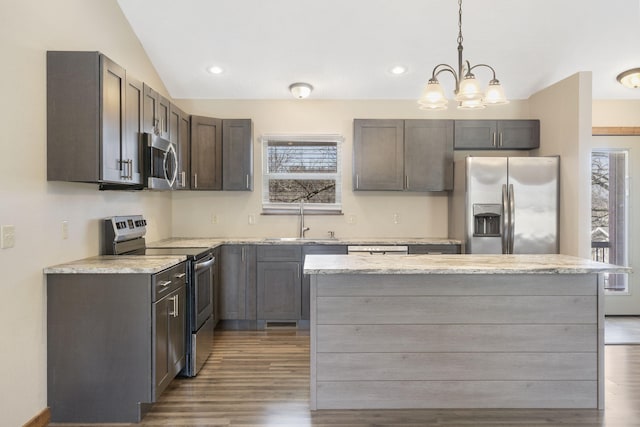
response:
[[(274, 203), (269, 201), (269, 179), (332, 179), (336, 182), (335, 203), (306, 203), (305, 213), (341, 215), (342, 214), (342, 149), (344, 137), (339, 134), (265, 134), (260, 138), (262, 146), (262, 212), (263, 214), (298, 214), (299, 203)], [(335, 143), (337, 149), (336, 172), (331, 173), (270, 173), (268, 147), (270, 142), (293, 142), (300, 145), (318, 143)]]

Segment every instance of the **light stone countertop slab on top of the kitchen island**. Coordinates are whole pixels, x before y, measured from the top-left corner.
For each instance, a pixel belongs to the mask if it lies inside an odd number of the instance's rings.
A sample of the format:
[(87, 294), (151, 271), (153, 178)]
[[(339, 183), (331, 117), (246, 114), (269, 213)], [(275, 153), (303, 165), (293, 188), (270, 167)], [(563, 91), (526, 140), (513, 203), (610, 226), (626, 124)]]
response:
[(305, 274), (584, 274), (628, 267), (567, 255), (307, 255)]

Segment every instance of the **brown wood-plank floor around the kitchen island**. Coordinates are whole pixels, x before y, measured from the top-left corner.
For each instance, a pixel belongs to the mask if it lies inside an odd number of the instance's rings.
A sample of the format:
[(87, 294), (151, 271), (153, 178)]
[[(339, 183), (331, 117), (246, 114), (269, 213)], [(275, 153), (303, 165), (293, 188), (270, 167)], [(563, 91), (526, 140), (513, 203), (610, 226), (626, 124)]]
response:
[[(174, 380), (138, 426), (640, 426), (640, 346), (607, 346), (606, 409), (309, 411), (309, 336), (216, 331), (196, 378)], [(51, 424), (69, 426), (78, 424)], [(114, 424), (92, 424), (94, 427)], [(125, 426), (130, 424), (117, 424)]]

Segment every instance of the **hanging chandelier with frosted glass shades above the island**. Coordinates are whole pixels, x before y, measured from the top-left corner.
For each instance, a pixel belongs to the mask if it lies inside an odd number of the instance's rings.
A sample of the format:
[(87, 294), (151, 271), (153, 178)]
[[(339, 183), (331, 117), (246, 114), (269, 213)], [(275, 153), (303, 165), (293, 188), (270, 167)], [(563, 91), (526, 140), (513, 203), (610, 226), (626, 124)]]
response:
[[(504, 89), (498, 79), (496, 71), (487, 64), (476, 64), (471, 66), (469, 61), (462, 59), (462, 0), (458, 0), (458, 68), (457, 70), (449, 64), (438, 64), (431, 73), (431, 78), (427, 83), (422, 97), (418, 100), (421, 110), (445, 110), (449, 102), (444, 94), (444, 90), (438, 81), (438, 75), (442, 72), (449, 72), (456, 82), (455, 100), (460, 109), (482, 109), (487, 105), (507, 104), (509, 101), (504, 96)], [(489, 81), (486, 92), (480, 90), (480, 85), (472, 71), (476, 68), (486, 67), (493, 73), (493, 78)]]

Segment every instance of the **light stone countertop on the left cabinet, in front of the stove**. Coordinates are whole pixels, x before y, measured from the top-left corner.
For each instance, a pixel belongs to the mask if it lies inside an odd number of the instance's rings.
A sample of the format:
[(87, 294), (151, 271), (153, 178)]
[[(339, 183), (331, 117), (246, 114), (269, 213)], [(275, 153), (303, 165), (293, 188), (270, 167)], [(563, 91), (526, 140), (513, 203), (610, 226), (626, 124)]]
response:
[(101, 255), (44, 269), (45, 274), (154, 274), (186, 260), (184, 255)]

